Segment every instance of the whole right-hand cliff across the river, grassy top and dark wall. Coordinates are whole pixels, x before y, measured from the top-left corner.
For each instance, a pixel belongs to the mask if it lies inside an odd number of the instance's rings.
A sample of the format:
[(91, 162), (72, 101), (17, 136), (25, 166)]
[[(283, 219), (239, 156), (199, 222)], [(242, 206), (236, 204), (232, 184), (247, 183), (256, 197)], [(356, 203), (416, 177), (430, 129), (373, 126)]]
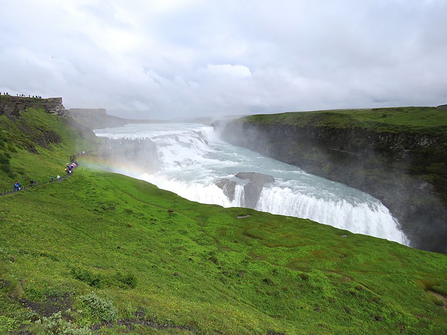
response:
[(435, 107), (254, 115), (224, 140), (381, 200), (411, 246), (447, 253), (447, 113)]

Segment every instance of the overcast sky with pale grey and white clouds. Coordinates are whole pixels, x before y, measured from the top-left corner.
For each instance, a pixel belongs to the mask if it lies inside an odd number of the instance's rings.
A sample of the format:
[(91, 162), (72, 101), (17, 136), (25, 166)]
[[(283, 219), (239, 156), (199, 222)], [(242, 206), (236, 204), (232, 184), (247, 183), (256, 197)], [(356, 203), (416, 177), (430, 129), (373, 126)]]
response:
[(447, 103), (447, 0), (1, 0), (0, 91), (129, 118)]

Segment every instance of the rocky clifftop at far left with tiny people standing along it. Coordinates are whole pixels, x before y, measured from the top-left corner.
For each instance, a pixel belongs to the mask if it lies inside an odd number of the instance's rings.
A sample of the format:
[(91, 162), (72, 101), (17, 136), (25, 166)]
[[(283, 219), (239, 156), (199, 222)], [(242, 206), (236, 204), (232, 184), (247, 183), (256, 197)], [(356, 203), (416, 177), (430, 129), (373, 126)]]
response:
[(62, 98), (27, 98), (12, 95), (0, 95), (0, 115), (17, 117), (27, 108), (43, 108), (49, 114), (66, 116)]

